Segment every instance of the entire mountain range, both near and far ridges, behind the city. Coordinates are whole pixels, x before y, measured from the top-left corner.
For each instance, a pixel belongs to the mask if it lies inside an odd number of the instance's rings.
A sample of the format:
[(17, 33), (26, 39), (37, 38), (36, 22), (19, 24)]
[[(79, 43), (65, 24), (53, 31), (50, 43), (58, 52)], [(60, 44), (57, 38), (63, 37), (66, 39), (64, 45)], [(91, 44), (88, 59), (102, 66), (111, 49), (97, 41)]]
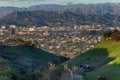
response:
[(17, 26), (73, 26), (94, 23), (114, 26), (115, 19), (119, 25), (120, 5), (73, 4), (55, 5), (41, 4), (28, 8), (0, 7), (0, 25)]

